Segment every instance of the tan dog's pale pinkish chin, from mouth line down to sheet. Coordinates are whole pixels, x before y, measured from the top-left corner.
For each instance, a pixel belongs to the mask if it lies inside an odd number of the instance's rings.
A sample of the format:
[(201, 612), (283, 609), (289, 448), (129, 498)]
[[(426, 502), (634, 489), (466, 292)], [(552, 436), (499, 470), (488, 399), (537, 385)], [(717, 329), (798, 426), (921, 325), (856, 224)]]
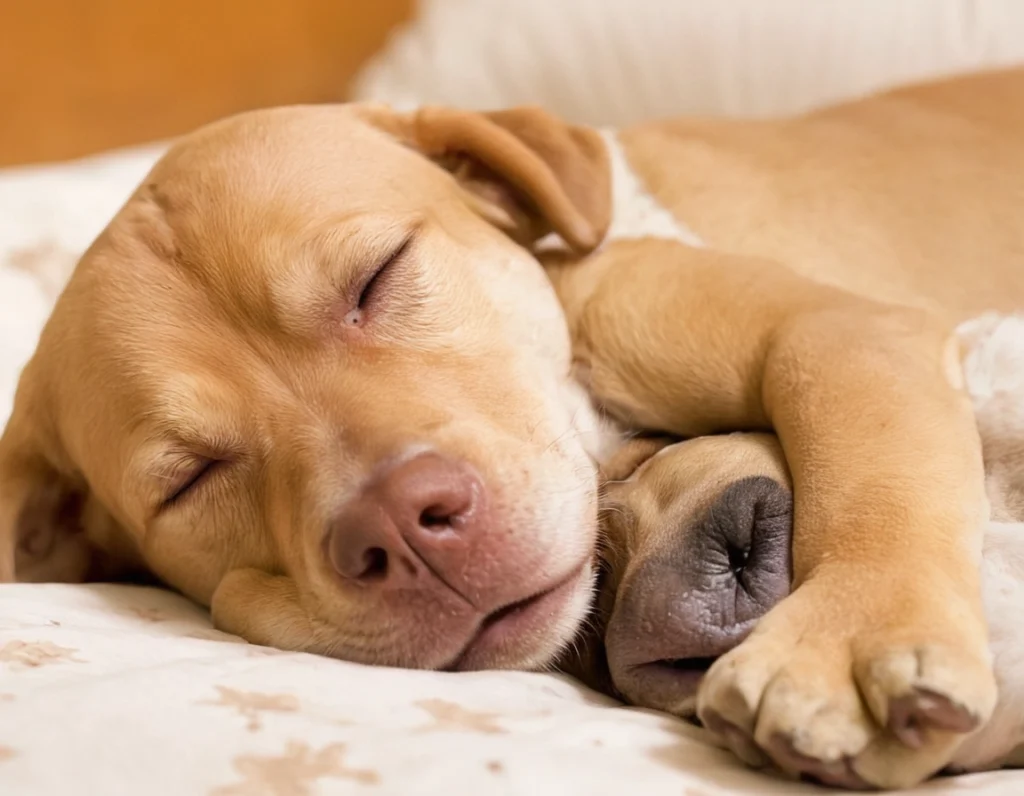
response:
[(550, 588), (493, 612), (442, 668), (535, 671), (551, 666), (590, 613), (594, 578), (588, 559)]

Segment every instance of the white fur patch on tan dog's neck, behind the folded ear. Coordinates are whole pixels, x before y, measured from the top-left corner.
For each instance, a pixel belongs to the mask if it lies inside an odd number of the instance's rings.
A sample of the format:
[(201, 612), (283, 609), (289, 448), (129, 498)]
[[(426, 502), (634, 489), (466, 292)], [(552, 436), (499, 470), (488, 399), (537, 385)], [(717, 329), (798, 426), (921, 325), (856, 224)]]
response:
[(611, 226), (603, 245), (611, 241), (662, 238), (703, 247), (700, 237), (682, 223), (647, 191), (630, 166), (618, 134), (602, 130), (611, 163)]

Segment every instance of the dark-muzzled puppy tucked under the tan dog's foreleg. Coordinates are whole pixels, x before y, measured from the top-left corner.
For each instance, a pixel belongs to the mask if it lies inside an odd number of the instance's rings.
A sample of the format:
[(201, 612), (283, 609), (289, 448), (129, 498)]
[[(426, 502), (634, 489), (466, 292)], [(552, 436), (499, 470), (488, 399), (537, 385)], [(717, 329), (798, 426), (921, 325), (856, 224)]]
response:
[[(961, 336), (992, 505), (981, 573), (999, 701), (949, 767), (980, 770), (1024, 764), (1024, 318), (982, 319)], [(757, 632), (790, 592), (785, 457), (765, 433), (639, 438), (606, 465), (606, 476), (597, 624), (605, 627), (607, 671), (592, 670), (591, 682), (692, 718), (715, 659)], [(757, 747), (734, 742), (748, 762), (767, 762)], [(785, 750), (775, 760), (824, 783), (865, 785), (845, 761), (808, 770)]]

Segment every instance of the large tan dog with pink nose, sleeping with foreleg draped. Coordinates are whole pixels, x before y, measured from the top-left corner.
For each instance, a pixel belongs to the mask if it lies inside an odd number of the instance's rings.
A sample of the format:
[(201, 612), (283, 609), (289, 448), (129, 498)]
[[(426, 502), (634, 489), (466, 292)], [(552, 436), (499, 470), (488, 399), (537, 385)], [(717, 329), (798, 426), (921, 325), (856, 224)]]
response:
[(705, 723), (916, 782), (996, 697), (951, 329), (1024, 302), (1022, 109), (1012, 72), (620, 133), (367, 106), (207, 127), (26, 368), (0, 578), (142, 570), (257, 642), (545, 665), (588, 610), (617, 438), (583, 384), (627, 426), (772, 428), (793, 472), (796, 588), (707, 674)]

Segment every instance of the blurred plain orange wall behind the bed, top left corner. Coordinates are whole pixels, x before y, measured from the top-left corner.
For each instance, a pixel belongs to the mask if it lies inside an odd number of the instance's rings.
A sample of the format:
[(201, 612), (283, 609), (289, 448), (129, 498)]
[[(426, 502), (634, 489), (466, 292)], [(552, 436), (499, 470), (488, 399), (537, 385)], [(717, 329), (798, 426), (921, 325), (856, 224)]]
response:
[(342, 98), (414, 0), (0, 0), (0, 165)]

